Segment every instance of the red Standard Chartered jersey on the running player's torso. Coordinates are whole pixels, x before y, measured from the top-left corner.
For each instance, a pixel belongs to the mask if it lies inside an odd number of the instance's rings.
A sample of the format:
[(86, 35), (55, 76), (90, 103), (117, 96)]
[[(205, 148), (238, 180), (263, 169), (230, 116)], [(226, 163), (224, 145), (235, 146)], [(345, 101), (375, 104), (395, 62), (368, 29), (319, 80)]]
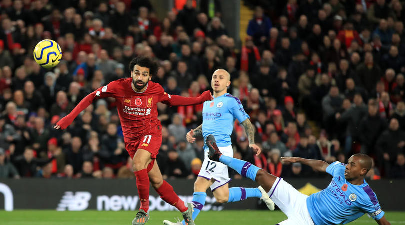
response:
[(156, 104), (162, 102), (171, 105), (171, 96), (164, 92), (160, 84), (149, 81), (146, 90), (135, 92), (131, 82), (132, 78), (115, 80), (100, 87), (95, 94), (96, 99), (116, 99), (125, 142), (144, 135), (160, 134), (161, 124), (157, 119)]

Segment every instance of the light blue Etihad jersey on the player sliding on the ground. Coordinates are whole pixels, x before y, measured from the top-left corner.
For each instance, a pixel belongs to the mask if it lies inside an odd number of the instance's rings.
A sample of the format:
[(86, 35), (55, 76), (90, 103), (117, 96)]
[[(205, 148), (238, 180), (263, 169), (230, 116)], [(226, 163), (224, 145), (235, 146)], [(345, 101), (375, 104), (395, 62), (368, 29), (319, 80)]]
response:
[(375, 220), (384, 216), (377, 196), (365, 180), (361, 185), (353, 185), (344, 178), (345, 166), (339, 161), (330, 164), (326, 168), (333, 176), (329, 186), (306, 199), (315, 225), (347, 224), (364, 213)]

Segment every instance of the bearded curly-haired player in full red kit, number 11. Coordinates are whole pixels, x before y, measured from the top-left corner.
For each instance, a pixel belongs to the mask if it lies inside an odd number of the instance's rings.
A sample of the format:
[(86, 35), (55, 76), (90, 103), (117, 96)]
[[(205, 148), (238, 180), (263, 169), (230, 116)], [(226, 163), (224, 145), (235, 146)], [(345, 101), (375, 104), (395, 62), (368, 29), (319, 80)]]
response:
[(173, 187), (163, 180), (157, 162), (155, 162), (162, 141), (156, 104), (158, 102), (170, 106), (201, 104), (213, 99), (211, 92), (205, 91), (199, 97), (193, 98), (167, 94), (160, 84), (150, 80), (157, 73), (158, 67), (154, 61), (148, 58), (133, 59), (130, 69), (131, 78), (112, 81), (90, 93), (67, 116), (57, 122), (54, 128), (65, 129), (95, 99), (115, 98), (125, 147), (133, 159), (140, 199), (140, 210), (133, 219), (132, 225), (143, 225), (149, 220), (150, 183), (164, 201), (182, 212), (184, 220), (189, 225), (194, 225), (192, 204), (188, 203), (187, 206), (184, 204), (174, 192)]

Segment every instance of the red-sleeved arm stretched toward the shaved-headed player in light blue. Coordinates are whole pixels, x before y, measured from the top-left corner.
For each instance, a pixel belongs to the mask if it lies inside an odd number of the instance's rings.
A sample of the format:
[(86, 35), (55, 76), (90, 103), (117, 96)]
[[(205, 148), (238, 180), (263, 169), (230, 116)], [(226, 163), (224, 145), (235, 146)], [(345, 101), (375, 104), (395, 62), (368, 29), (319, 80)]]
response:
[(160, 102), (169, 106), (185, 106), (201, 104), (212, 99), (213, 97), (210, 91), (204, 91), (198, 97), (183, 97), (179, 95), (170, 95), (164, 92), (164, 94), (160, 97)]

